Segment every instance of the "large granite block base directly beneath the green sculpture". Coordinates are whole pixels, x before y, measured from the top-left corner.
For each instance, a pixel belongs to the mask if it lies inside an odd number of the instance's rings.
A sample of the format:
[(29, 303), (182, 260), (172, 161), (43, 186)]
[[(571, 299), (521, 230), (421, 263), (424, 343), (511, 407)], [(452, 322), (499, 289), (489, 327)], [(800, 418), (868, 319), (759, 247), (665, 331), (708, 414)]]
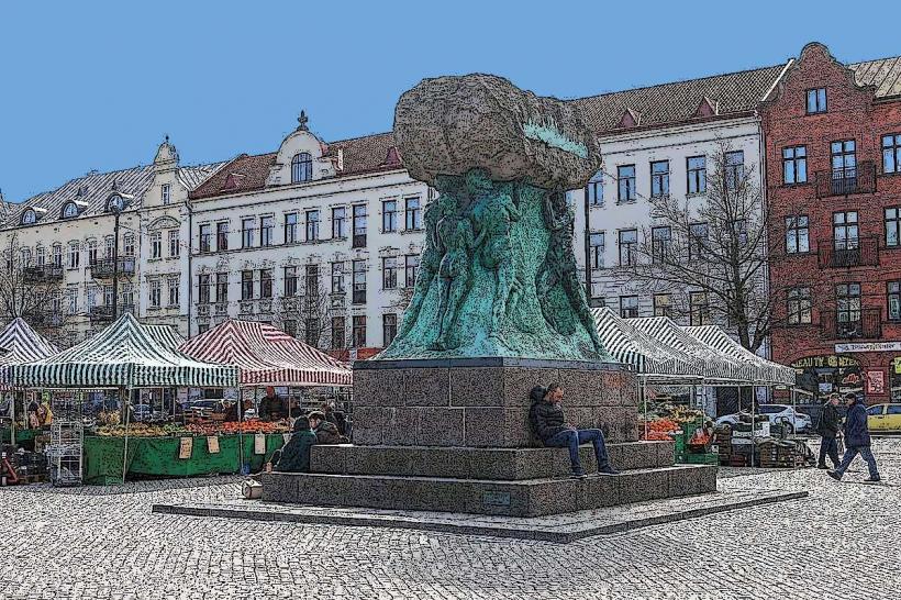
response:
[(564, 388), (566, 418), (611, 442), (638, 440), (635, 375), (619, 364), (516, 358), (361, 360), (354, 365), (354, 443), (538, 446), (529, 392)]

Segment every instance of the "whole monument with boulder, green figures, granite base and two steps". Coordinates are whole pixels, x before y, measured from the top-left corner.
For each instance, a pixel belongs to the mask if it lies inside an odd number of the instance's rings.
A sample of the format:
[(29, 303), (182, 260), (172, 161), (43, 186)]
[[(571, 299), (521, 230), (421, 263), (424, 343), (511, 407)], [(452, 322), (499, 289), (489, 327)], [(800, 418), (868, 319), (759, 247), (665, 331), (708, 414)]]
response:
[[(537, 515), (715, 490), (714, 468), (638, 442), (635, 375), (598, 338), (566, 190), (601, 152), (578, 108), (501, 77), (440, 77), (401, 97), (394, 137), (438, 195), (413, 297), (391, 345), (354, 365), (354, 445), (314, 446), (312, 474), (264, 476), (264, 499)], [(549, 382), (623, 475), (564, 478), (566, 449), (529, 426), (529, 391)]]

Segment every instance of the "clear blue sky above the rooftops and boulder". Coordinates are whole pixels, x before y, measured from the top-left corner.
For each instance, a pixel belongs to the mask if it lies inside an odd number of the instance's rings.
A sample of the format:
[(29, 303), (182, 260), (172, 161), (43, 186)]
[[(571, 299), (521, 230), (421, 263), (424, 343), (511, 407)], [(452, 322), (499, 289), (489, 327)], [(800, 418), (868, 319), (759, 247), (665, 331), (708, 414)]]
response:
[(811, 41), (846, 63), (901, 55), (899, 16), (867, 1), (3, 2), (0, 190), (148, 164), (167, 134), (182, 165), (272, 152), (300, 110), (326, 142), (390, 131), (424, 77), (577, 98), (780, 64)]

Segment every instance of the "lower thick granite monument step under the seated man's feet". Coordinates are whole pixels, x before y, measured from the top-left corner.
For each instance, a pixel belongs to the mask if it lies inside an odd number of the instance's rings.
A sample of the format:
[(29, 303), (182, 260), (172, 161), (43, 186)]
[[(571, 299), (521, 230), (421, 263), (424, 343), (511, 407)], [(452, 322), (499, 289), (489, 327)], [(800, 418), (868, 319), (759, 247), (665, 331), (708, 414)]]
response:
[(716, 467), (679, 465), (582, 479), (452, 479), (267, 473), (263, 500), (457, 513), (541, 516), (716, 490)]

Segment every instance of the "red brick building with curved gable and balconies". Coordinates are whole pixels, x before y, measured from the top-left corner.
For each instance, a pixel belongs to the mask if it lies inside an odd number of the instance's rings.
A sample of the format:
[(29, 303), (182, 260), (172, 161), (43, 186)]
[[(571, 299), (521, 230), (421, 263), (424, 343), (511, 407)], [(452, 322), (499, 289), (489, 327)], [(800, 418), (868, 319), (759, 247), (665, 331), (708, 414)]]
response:
[(772, 357), (815, 397), (901, 401), (901, 58), (809, 44), (760, 113)]

